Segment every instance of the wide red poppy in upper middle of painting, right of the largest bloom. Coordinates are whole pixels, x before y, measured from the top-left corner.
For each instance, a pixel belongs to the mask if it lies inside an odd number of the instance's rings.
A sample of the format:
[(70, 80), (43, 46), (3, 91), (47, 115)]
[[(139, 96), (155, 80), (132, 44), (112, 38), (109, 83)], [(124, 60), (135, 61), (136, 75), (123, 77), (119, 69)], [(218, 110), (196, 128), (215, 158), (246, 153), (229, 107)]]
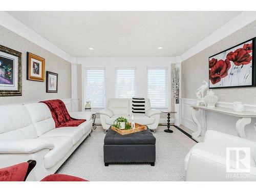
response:
[(247, 65), (251, 62), (252, 56), (247, 53), (247, 50), (240, 48), (234, 52), (227, 54), (227, 59), (233, 61), (234, 65)]

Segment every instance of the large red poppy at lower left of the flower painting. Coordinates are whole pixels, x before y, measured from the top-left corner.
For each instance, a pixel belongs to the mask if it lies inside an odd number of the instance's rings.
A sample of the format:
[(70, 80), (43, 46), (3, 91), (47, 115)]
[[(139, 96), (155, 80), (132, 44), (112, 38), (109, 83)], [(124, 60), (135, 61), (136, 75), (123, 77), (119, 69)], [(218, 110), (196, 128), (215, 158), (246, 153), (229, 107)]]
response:
[(212, 68), (209, 68), (209, 77), (212, 84), (216, 84), (221, 81), (221, 78), (227, 76), (228, 70), (230, 69), (231, 64), (228, 59), (219, 60)]

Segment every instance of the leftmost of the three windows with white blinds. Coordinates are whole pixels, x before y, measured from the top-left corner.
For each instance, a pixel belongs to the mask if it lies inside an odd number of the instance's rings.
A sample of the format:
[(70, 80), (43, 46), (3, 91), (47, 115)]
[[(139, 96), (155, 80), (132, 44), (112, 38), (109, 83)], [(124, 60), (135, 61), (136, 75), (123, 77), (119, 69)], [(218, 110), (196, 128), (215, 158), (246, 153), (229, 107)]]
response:
[(105, 70), (87, 69), (84, 76), (84, 104), (91, 101), (92, 108), (105, 107)]

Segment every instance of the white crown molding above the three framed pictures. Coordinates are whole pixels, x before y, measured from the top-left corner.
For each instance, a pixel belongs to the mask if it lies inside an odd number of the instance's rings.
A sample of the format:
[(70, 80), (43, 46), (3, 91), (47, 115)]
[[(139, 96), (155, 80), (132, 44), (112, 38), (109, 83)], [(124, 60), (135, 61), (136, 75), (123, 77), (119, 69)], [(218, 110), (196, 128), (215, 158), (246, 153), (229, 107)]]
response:
[(34, 44), (46, 49), (47, 51), (50, 51), (51, 53), (69, 62), (72, 61), (72, 57), (68, 53), (53, 45), (52, 42), (42, 37), (23, 23), (19, 22), (19, 20), (17, 20), (5, 11), (0, 11), (0, 25), (30, 40)]

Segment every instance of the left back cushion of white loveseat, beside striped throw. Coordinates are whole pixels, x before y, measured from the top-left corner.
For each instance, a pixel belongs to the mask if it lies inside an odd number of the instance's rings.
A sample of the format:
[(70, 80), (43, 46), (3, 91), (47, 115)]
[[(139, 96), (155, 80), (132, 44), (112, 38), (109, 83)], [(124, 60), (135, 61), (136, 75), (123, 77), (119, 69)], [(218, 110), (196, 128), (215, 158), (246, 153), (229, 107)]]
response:
[(114, 115), (129, 115), (129, 99), (109, 99), (107, 109), (111, 110)]

